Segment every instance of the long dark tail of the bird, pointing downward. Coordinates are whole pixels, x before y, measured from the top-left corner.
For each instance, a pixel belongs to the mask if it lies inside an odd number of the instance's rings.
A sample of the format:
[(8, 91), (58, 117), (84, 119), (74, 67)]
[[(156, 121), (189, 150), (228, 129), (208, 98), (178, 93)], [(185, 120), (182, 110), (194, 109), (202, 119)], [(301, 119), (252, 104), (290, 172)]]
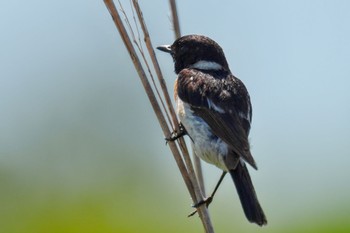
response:
[(239, 162), (236, 169), (230, 170), (230, 174), (236, 185), (238, 196), (247, 219), (259, 226), (266, 225), (267, 220), (256, 197), (246, 165)]

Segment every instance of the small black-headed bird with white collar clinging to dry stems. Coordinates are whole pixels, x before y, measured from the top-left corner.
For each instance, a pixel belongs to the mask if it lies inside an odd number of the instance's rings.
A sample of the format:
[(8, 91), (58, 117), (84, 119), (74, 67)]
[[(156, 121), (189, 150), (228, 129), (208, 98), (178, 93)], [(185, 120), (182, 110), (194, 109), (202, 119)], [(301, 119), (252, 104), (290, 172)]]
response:
[[(174, 85), (180, 129), (168, 140), (188, 135), (196, 156), (230, 173), (249, 222), (267, 224), (247, 164), (257, 170), (248, 135), (252, 105), (247, 88), (229, 69), (223, 49), (203, 35), (186, 35), (157, 49), (170, 53), (177, 78)], [(198, 205), (197, 205), (198, 206)], [(195, 205), (196, 207), (196, 205)]]

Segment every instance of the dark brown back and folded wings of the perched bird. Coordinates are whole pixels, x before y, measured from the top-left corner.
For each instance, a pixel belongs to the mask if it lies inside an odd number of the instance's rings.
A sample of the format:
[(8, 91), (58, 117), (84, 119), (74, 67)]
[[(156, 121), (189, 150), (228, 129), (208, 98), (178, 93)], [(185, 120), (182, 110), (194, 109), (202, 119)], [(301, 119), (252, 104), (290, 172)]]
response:
[(235, 154), (257, 168), (248, 141), (250, 98), (239, 79), (225, 71), (184, 69), (178, 76), (177, 92), (216, 136), (226, 142)]

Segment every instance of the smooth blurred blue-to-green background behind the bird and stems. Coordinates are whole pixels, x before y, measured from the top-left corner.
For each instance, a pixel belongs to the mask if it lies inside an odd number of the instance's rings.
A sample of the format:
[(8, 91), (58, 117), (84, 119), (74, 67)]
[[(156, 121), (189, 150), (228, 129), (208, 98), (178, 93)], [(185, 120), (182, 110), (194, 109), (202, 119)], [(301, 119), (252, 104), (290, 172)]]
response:
[[(154, 45), (172, 43), (168, 1), (141, 6)], [(269, 224), (245, 220), (227, 178), (217, 232), (350, 232), (350, 3), (178, 10), (183, 34), (224, 48), (254, 107), (251, 176)], [(202, 232), (103, 1), (2, 1), (0, 28), (0, 232)], [(211, 190), (220, 171), (203, 169)]]

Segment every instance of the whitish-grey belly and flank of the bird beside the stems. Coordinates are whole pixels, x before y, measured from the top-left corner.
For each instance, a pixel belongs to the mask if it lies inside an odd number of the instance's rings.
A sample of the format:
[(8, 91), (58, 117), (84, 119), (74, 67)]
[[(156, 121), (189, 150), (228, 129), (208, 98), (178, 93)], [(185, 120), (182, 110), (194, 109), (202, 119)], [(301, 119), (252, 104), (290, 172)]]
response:
[(210, 127), (202, 118), (193, 114), (187, 103), (177, 98), (176, 105), (177, 114), (192, 139), (192, 146), (196, 155), (204, 161), (227, 171), (223, 160), (228, 151), (227, 144), (211, 132)]

